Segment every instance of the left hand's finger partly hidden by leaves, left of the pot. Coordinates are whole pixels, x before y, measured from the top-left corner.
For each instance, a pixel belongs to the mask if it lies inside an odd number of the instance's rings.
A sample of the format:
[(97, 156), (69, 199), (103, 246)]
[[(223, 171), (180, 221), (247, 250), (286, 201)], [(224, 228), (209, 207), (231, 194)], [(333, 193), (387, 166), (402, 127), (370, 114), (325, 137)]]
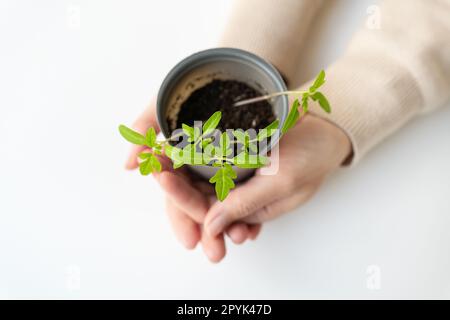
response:
[[(155, 128), (157, 133), (159, 132), (154, 99), (150, 103), (150, 106), (138, 117), (133, 125), (133, 129), (141, 134), (145, 134), (147, 129), (150, 127)], [(139, 166), (137, 156), (145, 149), (145, 146), (133, 146), (128, 156), (125, 167), (129, 170), (136, 169)]]

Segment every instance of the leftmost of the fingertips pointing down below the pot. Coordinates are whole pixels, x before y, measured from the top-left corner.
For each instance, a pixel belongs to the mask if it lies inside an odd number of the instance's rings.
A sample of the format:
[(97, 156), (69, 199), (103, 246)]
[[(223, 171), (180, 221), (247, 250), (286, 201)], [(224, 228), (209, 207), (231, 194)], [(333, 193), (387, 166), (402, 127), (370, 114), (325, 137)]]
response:
[(187, 249), (194, 249), (201, 237), (198, 224), (168, 199), (166, 199), (166, 211), (178, 240)]

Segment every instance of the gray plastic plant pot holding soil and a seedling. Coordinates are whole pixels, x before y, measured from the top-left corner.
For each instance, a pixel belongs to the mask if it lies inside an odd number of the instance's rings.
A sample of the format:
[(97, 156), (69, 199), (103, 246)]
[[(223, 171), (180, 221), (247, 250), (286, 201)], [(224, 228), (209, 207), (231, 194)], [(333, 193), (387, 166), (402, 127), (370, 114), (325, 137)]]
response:
[[(158, 92), (157, 116), (162, 134), (168, 138), (175, 130), (177, 114), (181, 104), (198, 88), (220, 80), (237, 80), (260, 91), (262, 94), (285, 91), (286, 84), (279, 72), (266, 60), (253, 53), (234, 48), (214, 48), (200, 51), (180, 61), (165, 77)], [(287, 96), (272, 102), (273, 112), (280, 119), (280, 127), (289, 112)], [(272, 149), (278, 139), (271, 139), (267, 150)], [(209, 179), (217, 168), (207, 165), (189, 166), (200, 176)], [(243, 180), (254, 169), (234, 168), (236, 181)]]

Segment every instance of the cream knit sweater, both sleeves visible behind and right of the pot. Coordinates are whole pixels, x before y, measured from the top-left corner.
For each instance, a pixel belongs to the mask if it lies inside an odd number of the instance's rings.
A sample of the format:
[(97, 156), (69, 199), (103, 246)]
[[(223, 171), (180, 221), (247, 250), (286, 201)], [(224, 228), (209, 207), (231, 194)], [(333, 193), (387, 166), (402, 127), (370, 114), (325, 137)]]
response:
[[(320, 0), (237, 0), (221, 46), (272, 62), (289, 79)], [(353, 144), (353, 162), (416, 115), (450, 100), (450, 0), (384, 0), (380, 28), (361, 28), (327, 70), (326, 117)], [(450, 124), (449, 124), (450, 125)]]

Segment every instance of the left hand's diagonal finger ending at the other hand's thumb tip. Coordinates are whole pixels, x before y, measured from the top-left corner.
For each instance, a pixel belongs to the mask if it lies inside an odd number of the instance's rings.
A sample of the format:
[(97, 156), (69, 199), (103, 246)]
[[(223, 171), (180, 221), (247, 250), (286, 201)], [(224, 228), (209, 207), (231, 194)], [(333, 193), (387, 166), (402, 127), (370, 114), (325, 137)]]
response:
[(157, 181), (174, 205), (186, 212), (195, 222), (203, 223), (209, 206), (208, 199), (202, 193), (173, 172), (161, 172)]

